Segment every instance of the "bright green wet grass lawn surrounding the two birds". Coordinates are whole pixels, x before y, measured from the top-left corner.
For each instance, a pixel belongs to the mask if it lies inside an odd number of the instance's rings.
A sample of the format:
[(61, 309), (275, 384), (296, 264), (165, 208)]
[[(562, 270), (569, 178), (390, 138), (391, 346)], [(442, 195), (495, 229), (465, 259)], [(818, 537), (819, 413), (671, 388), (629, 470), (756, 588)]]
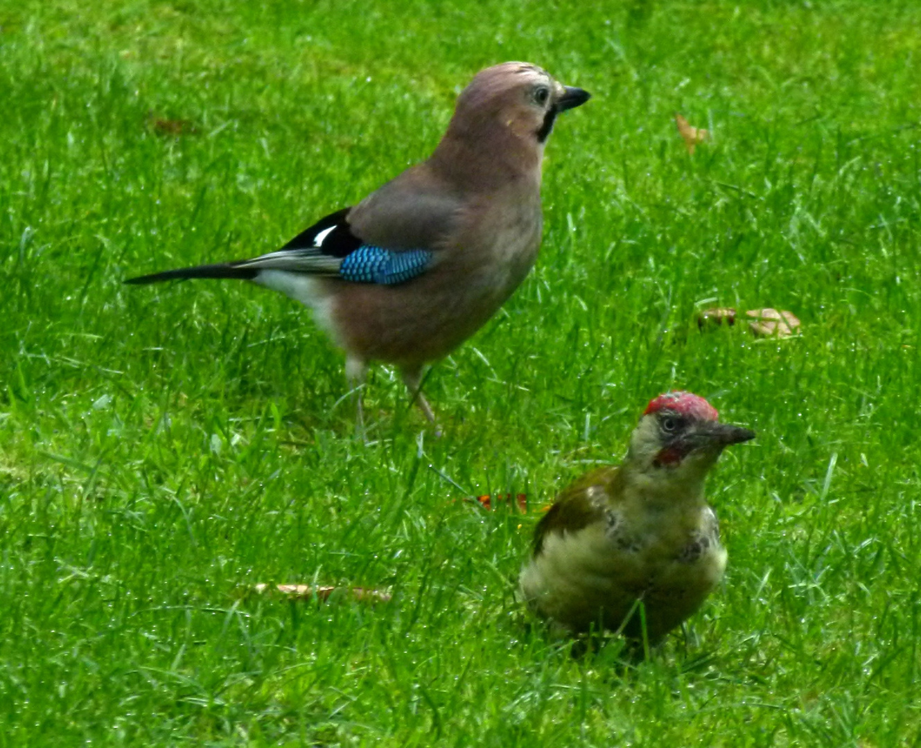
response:
[[(595, 98), (536, 270), (428, 379), (443, 439), (378, 368), (357, 443), (283, 297), (122, 286), (360, 199), (510, 59)], [(0, 746), (919, 744), (919, 65), (912, 2), (0, 3)], [(758, 440), (709, 484), (725, 584), (624, 673), (511, 580), (670, 387)], [(314, 580), (393, 601), (241, 592)]]

